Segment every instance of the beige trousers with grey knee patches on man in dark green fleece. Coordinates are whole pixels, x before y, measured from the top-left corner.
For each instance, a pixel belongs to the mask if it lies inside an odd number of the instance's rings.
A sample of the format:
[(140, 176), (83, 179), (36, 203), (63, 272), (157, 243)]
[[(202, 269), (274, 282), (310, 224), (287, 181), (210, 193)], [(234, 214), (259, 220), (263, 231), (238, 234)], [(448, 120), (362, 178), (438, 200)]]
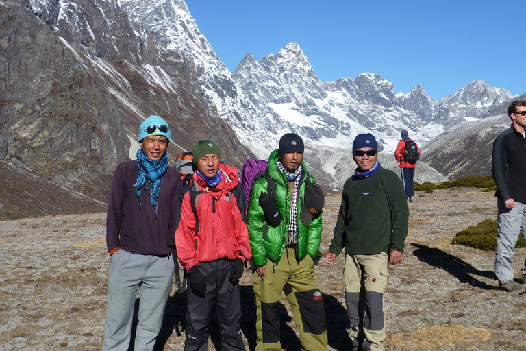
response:
[(345, 255), (345, 303), (358, 350), (385, 350), (384, 292), (388, 255)]

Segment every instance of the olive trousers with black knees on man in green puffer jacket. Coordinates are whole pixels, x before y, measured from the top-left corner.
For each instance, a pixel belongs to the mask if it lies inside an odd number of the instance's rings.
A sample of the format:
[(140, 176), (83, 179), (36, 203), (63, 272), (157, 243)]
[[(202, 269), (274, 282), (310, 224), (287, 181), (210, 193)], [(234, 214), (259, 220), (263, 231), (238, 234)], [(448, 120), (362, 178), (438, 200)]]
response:
[(294, 313), (302, 349), (327, 350), (325, 306), (314, 281), (312, 257), (305, 256), (298, 263), (294, 249), (286, 248), (277, 265), (268, 261), (263, 278), (258, 271), (252, 277), (257, 313), (257, 351), (281, 350), (276, 307), (283, 292)]

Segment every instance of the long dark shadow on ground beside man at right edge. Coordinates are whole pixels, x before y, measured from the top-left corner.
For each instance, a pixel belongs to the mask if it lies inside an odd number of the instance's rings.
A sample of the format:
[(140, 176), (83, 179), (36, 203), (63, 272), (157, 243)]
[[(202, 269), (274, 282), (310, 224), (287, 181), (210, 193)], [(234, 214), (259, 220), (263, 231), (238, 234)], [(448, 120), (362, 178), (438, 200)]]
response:
[(458, 278), (460, 282), (467, 283), (480, 289), (496, 289), (496, 287), (488, 285), (485, 282), (481, 282), (480, 280), (473, 277), (479, 276), (482, 278), (494, 280), (495, 276), (492, 271), (479, 271), (479, 269), (476, 269), (466, 261), (435, 247), (429, 247), (416, 243), (413, 243), (412, 245), (416, 247), (416, 250), (414, 250), (413, 254), (420, 261), (427, 263), (428, 265), (444, 269), (444, 271), (447, 271), (447, 273)]

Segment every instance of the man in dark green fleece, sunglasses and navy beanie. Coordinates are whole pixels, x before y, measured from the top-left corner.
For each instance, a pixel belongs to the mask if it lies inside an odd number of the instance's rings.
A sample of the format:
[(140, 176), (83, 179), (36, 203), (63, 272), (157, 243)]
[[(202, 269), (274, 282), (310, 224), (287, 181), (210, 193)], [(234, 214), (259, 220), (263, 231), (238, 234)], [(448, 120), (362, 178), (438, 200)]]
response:
[(377, 150), (373, 135), (356, 136), (353, 156), (358, 168), (343, 186), (334, 238), (325, 255), (330, 265), (345, 250), (345, 302), (353, 350), (385, 350), (387, 266), (402, 261), (408, 235), (402, 182), (380, 166)]

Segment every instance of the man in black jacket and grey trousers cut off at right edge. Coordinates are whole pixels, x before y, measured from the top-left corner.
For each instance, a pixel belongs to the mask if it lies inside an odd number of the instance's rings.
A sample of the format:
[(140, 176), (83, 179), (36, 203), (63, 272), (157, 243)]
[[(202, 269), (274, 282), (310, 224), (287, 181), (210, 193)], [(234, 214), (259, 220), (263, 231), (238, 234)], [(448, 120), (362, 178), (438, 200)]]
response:
[[(515, 244), (522, 228), (526, 234), (526, 101), (513, 101), (508, 106), (512, 120), (493, 143), (491, 173), (497, 184), (497, 250), (495, 251), (495, 275), (499, 287), (505, 291), (517, 291), (522, 285), (514, 282), (512, 268)], [(523, 281), (526, 279), (526, 262)]]

